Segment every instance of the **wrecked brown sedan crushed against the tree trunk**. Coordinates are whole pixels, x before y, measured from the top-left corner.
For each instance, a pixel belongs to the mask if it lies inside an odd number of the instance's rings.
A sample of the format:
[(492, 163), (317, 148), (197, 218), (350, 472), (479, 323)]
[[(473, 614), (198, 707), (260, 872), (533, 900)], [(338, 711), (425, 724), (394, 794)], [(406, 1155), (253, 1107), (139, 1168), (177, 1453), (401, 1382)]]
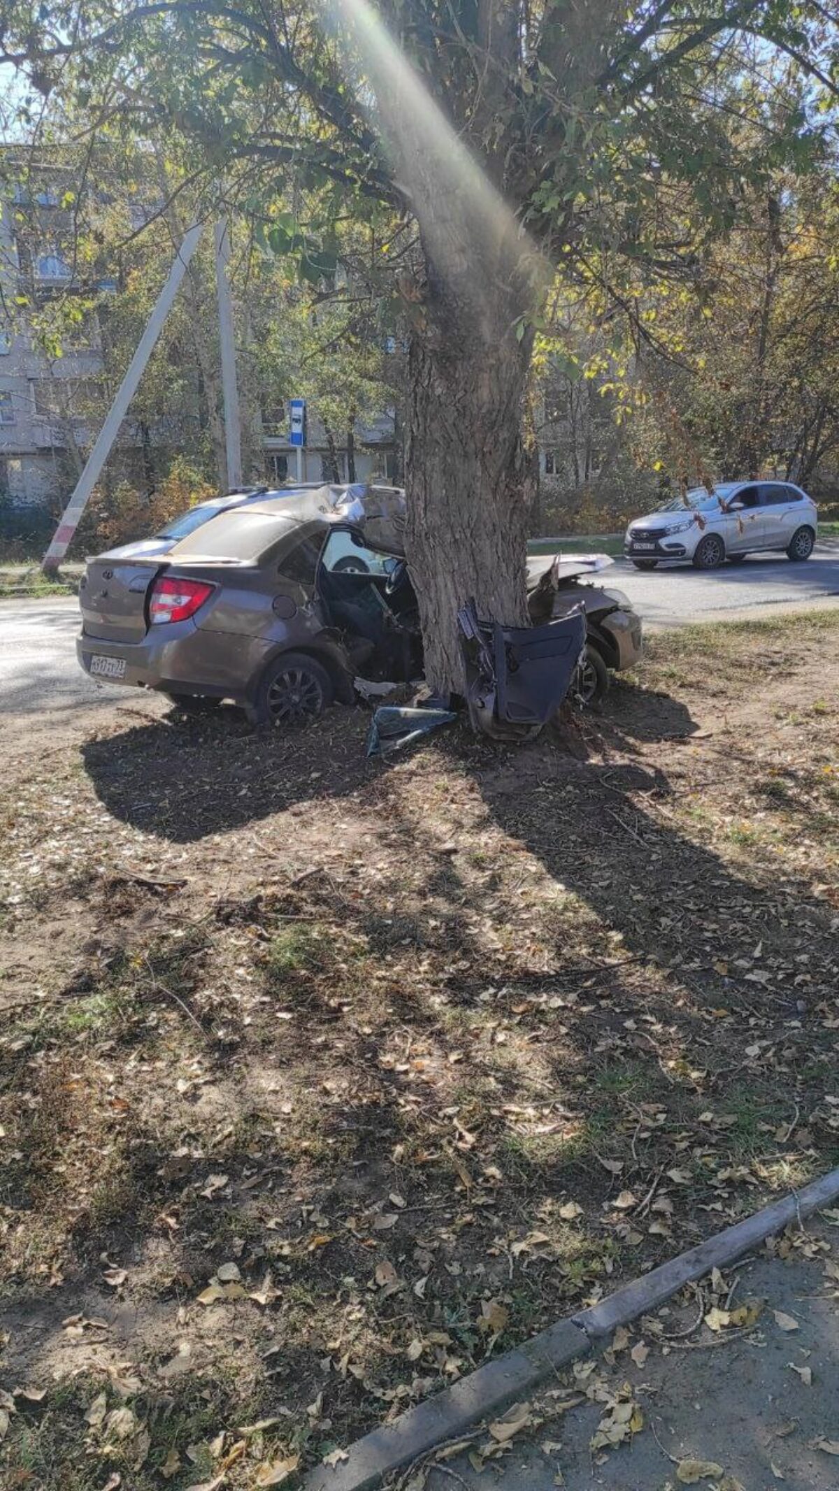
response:
[[(352, 702), (359, 678), (419, 678), (404, 526), (398, 488), (322, 486), (225, 508), (165, 555), (113, 549), (88, 561), (82, 580), (79, 662), (183, 708), (231, 699), (253, 722), (283, 726)], [(607, 666), (633, 661), (641, 628), (621, 596), (593, 590), (599, 604), (586, 607), (583, 561), (565, 579), (550, 561), (535, 570), (536, 608), (584, 605), (589, 649), (599, 649), (593, 686), (601, 669), (608, 680)]]

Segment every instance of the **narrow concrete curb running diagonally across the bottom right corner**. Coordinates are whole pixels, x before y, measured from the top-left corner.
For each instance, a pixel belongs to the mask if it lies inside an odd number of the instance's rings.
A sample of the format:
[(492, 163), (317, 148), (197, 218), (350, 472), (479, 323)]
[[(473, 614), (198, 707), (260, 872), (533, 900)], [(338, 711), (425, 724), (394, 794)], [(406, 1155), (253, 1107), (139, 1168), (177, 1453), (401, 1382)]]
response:
[(370, 1491), (381, 1479), (428, 1454), (435, 1445), (456, 1440), (474, 1424), (526, 1397), (551, 1373), (583, 1357), (617, 1325), (656, 1309), (683, 1284), (723, 1269), (757, 1243), (793, 1221), (809, 1217), (839, 1197), (839, 1169), (830, 1170), (800, 1191), (772, 1202), (763, 1211), (726, 1227), (697, 1248), (662, 1263), (642, 1278), (615, 1290), (592, 1309), (542, 1330), (516, 1351), (471, 1372), (453, 1387), (401, 1413), (392, 1424), (350, 1445), (337, 1466), (317, 1466), (305, 1476), (305, 1491)]

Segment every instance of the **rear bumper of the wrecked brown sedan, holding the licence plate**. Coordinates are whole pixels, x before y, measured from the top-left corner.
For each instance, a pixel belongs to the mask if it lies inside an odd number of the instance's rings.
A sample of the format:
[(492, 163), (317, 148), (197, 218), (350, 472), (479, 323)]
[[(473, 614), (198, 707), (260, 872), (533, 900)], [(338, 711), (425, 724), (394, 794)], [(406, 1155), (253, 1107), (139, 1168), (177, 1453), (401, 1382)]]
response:
[[(158, 637), (158, 631), (164, 635)], [(259, 637), (207, 632), (192, 622), (151, 628), (137, 643), (104, 641), (85, 631), (76, 638), (76, 658), (89, 677), (97, 677), (91, 672), (94, 658), (125, 663), (121, 678), (104, 675), (103, 683), (232, 699), (235, 704), (250, 702), (270, 650), (271, 644)]]

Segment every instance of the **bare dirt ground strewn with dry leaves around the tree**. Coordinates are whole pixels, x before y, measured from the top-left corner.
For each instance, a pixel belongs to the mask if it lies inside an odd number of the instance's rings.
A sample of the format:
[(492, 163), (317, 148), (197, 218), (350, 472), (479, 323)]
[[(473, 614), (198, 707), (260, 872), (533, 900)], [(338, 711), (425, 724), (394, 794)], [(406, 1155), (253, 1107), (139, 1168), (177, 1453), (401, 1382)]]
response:
[(280, 1484), (839, 1161), (838, 641), (390, 766), (4, 722), (4, 1484)]

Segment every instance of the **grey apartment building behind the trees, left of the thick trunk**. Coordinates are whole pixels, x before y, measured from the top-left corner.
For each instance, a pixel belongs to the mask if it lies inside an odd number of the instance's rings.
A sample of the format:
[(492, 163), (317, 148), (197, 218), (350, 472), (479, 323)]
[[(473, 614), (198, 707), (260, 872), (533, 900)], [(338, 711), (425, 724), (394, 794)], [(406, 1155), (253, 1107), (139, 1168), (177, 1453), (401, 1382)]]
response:
[[(0, 499), (18, 507), (61, 504), (83, 467), (113, 394), (103, 352), (101, 316), (119, 294), (116, 279), (95, 277), (89, 262), (83, 274), (75, 262), (72, 179), (66, 166), (34, 163), (25, 151), (4, 154), (6, 186), (0, 186)], [(106, 194), (103, 192), (103, 197)], [(128, 209), (131, 225), (142, 227), (149, 209)], [(61, 337), (61, 355), (51, 358), (43, 338), (33, 335), (33, 315), (43, 315), (51, 298), (91, 292), (100, 310), (85, 315), (70, 335)], [(186, 429), (186, 425), (191, 428)], [(159, 417), (151, 428), (127, 419), (115, 450), (121, 474), (142, 483), (149, 446), (174, 452), (183, 437), (195, 437), (195, 417)], [(183, 428), (180, 428), (183, 426)], [(384, 413), (355, 431), (329, 438), (310, 410), (307, 444), (298, 455), (289, 441), (288, 409), (271, 410), (255, 431), (262, 473), (270, 483), (331, 480), (337, 468), (346, 480), (392, 479), (396, 471), (395, 420)], [(112, 461), (113, 464), (113, 461)], [(258, 462), (256, 462), (258, 465)]]

